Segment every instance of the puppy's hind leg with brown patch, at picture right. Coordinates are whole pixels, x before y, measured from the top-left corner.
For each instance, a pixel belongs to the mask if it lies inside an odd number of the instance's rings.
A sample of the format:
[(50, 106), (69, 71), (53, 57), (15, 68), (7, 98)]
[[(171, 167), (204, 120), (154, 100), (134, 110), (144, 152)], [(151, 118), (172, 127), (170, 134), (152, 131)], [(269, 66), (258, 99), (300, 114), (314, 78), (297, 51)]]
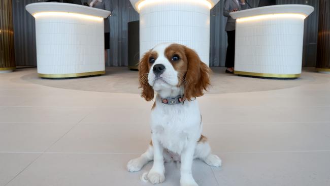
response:
[(197, 142), (194, 159), (199, 158), (203, 160), (206, 164), (214, 167), (221, 166), (221, 160), (218, 156), (211, 153), (211, 147), (205, 136), (201, 136), (200, 140)]

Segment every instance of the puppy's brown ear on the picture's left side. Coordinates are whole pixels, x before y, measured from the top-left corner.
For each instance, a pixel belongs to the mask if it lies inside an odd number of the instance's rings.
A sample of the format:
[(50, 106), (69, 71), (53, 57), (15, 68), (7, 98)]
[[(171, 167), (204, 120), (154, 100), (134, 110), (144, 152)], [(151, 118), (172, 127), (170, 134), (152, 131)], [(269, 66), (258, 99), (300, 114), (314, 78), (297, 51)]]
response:
[(150, 51), (145, 53), (139, 63), (139, 83), (142, 88), (141, 97), (147, 101), (151, 101), (154, 98), (154, 90), (148, 83), (148, 74), (150, 69), (149, 64)]

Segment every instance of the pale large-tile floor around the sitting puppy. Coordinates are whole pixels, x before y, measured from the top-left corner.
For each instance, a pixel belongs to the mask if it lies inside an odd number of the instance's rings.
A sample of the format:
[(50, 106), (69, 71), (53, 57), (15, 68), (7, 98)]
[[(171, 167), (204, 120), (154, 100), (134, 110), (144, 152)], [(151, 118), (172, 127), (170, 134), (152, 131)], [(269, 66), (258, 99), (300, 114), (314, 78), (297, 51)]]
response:
[[(137, 173), (126, 163), (147, 147), (152, 103), (21, 78), (33, 73), (0, 74), (0, 185), (151, 185), (140, 176), (152, 163)], [(203, 134), (223, 161), (194, 162), (201, 186), (330, 185), (330, 75), (304, 75), (313, 83), (199, 98)], [(160, 185), (179, 185), (177, 165), (166, 171)]]

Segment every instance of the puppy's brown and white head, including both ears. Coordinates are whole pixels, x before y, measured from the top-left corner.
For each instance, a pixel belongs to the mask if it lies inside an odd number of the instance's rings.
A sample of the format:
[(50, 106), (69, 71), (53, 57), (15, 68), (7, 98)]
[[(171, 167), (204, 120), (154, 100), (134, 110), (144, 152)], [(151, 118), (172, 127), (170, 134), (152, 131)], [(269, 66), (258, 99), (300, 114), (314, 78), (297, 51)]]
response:
[(184, 97), (191, 101), (203, 96), (203, 91), (210, 85), (210, 72), (194, 50), (180, 44), (159, 44), (140, 60), (141, 96), (150, 101), (154, 98), (154, 90), (182, 87)]

